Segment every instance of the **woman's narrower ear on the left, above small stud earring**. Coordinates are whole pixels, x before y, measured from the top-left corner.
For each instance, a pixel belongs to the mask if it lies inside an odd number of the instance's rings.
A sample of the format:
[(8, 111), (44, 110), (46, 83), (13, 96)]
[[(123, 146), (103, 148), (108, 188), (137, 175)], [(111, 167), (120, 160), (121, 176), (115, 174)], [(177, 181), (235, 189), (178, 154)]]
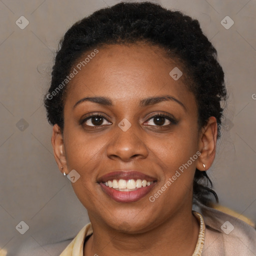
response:
[[(58, 168), (61, 172), (65, 172), (67, 174), (63, 135), (61, 133), (60, 127), (57, 124), (53, 125), (51, 144), (53, 148), (54, 158), (57, 162)], [(61, 167), (63, 168), (61, 169)]]

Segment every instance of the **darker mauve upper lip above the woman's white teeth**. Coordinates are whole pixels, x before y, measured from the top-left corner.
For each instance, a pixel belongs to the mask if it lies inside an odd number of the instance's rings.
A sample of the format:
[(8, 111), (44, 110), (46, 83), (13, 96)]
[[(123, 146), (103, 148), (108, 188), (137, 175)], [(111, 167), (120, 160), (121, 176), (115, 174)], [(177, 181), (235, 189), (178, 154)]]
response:
[(112, 179), (145, 179), (146, 181), (156, 180), (156, 178), (137, 170), (116, 170), (100, 176), (98, 182), (106, 182)]

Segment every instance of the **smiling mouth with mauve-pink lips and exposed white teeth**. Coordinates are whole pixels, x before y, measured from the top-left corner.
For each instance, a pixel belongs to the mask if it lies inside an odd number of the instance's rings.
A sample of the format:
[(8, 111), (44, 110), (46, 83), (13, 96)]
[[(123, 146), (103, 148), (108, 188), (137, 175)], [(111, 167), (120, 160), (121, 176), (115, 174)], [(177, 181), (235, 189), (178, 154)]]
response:
[(138, 171), (115, 171), (100, 177), (98, 183), (117, 202), (135, 202), (151, 191), (157, 180)]

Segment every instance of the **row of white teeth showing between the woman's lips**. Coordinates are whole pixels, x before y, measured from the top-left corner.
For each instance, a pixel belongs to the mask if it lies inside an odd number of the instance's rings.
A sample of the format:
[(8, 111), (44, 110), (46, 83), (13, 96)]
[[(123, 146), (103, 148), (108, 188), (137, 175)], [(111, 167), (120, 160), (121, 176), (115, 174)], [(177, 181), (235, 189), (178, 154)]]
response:
[(147, 181), (145, 179), (143, 179), (143, 180), (141, 180), (141, 179), (136, 179), (136, 180), (134, 180), (134, 179), (128, 179), (128, 180), (119, 179), (118, 181), (117, 180), (116, 179), (113, 179), (112, 181), (108, 180), (108, 181), (104, 182), (104, 184), (108, 187), (115, 188), (116, 190), (129, 191), (129, 189), (135, 190), (136, 188), (149, 186), (150, 184), (153, 183), (153, 181)]

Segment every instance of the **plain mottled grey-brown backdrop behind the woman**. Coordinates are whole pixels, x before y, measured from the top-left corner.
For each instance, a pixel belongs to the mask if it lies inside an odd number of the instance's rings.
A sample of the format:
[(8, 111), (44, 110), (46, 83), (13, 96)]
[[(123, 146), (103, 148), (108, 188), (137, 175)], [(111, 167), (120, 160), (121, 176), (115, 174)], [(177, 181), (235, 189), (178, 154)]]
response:
[[(58, 255), (88, 222), (86, 209), (53, 158), (52, 128), (42, 97), (50, 82), (53, 52), (66, 29), (94, 10), (117, 2), (0, 0), (2, 255), (4, 251), (29, 255), (32, 248), (37, 255)], [(217, 49), (229, 98), (218, 153), (209, 173), (220, 203), (256, 221), (256, 1), (160, 3), (197, 18)], [(21, 15), (29, 21), (24, 29), (15, 23)], [(229, 29), (220, 23), (226, 15), (234, 21)], [(21, 220), (29, 226), (23, 235), (15, 228)], [(47, 245), (63, 240), (59, 247)]]

